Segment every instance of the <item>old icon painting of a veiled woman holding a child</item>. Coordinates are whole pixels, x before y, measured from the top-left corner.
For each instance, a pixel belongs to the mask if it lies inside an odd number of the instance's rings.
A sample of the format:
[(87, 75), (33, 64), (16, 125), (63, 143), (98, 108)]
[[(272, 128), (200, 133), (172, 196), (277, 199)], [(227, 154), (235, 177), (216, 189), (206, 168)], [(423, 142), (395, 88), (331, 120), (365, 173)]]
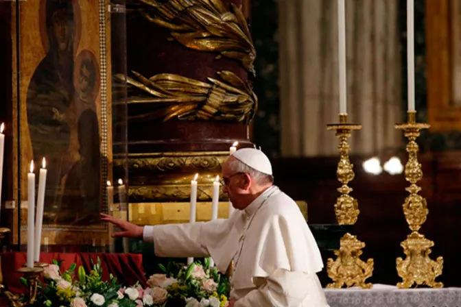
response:
[(38, 177), (45, 157), (44, 236), (50, 244), (91, 244), (95, 234), (107, 233), (99, 212), (107, 210), (103, 183), (112, 160), (110, 77), (105, 77), (110, 75), (108, 3), (36, 0), (19, 5), (20, 158), (15, 171), (21, 199), (27, 199), (25, 166), (34, 160)]

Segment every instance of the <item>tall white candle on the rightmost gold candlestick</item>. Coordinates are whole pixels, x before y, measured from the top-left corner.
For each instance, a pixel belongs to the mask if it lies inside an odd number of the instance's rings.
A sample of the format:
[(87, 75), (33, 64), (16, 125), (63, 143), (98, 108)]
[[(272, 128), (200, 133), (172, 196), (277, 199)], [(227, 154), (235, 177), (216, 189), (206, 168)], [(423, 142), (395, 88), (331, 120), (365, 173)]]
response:
[(407, 0), (408, 111), (414, 111), (414, 0)]

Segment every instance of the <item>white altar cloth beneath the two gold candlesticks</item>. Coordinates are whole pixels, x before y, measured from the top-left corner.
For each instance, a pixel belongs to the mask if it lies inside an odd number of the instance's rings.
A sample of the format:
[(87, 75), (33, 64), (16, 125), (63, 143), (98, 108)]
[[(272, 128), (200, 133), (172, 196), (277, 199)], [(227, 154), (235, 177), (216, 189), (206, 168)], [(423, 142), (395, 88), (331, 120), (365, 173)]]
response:
[(411, 288), (374, 284), (371, 289), (324, 289), (330, 307), (461, 307), (461, 288)]

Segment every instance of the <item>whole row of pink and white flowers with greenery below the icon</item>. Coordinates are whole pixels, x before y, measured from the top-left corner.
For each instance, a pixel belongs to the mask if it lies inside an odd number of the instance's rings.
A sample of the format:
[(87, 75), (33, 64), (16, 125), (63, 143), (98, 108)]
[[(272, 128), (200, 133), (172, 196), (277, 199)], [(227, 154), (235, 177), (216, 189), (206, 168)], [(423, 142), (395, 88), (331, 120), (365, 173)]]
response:
[[(192, 263), (185, 267), (169, 262), (167, 269), (159, 265), (162, 274), (150, 276), (143, 288), (139, 284), (124, 287), (110, 275), (102, 280), (99, 258), (93, 269), (86, 274), (83, 267), (73, 264), (61, 272), (60, 262), (44, 268), (43, 282), (38, 282), (36, 301), (33, 306), (69, 307), (226, 307), (230, 285), (226, 275), (215, 267)], [(76, 273), (75, 273), (76, 271)], [(21, 278), (27, 286), (27, 281)]]

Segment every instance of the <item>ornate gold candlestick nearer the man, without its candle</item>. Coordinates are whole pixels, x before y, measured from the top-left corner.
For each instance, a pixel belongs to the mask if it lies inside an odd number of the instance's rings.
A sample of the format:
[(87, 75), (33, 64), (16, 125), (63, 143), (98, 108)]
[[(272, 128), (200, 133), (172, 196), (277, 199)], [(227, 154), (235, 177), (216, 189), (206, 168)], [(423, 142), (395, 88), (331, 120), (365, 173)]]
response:
[[(338, 149), (340, 151), (340, 162), (336, 176), (342, 183), (338, 188), (341, 193), (336, 200), (335, 215), (340, 225), (354, 225), (359, 216), (359, 205), (357, 199), (349, 195), (353, 190), (348, 186), (355, 173), (353, 164), (349, 160), (349, 151), (351, 150), (347, 140), (351, 137), (353, 130), (362, 129), (362, 125), (347, 123), (347, 114), (340, 114), (340, 123), (327, 125), (328, 130), (335, 130), (336, 136), (340, 140)], [(365, 280), (373, 274), (375, 261), (368, 259), (364, 262), (360, 259), (362, 248), (365, 243), (359, 241), (357, 236), (345, 234), (340, 240), (340, 249), (335, 250), (336, 260), (329, 258), (327, 260), (327, 273), (333, 283), (327, 284), (327, 288), (342, 288), (342, 286), (359, 286), (362, 288), (371, 288), (372, 284), (366, 283)]]

